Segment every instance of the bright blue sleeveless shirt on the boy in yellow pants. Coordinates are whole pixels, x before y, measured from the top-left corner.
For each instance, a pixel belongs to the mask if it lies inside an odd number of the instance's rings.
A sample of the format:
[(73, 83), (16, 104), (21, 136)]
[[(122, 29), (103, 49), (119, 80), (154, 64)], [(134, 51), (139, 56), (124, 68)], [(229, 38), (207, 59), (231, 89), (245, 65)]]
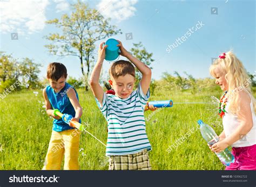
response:
[[(48, 86), (46, 87), (46, 94), (48, 96), (48, 99), (53, 109), (58, 109), (62, 114), (69, 114), (75, 117), (76, 110), (72, 106), (67, 94), (71, 88), (73, 87), (66, 82), (64, 88), (62, 88), (61, 91), (56, 93), (51, 86)], [(78, 99), (77, 91), (75, 88), (73, 89), (75, 90), (77, 99)], [(79, 119), (79, 122), (81, 122), (80, 119)], [(53, 120), (52, 130), (60, 132), (60, 131), (69, 130), (69, 129), (73, 129), (73, 128), (70, 127), (69, 124), (65, 123), (62, 119)]]

